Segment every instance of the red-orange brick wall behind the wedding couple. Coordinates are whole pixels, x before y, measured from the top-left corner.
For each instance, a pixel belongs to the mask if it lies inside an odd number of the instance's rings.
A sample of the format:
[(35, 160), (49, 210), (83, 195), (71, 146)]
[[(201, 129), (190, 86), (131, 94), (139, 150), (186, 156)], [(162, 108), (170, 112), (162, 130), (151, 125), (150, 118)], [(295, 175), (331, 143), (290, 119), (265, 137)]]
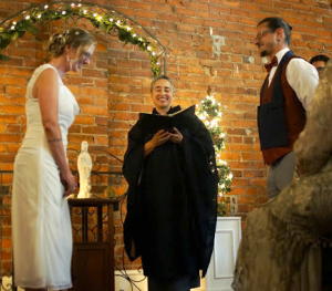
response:
[[(1, 1), (0, 21), (35, 1)], [(266, 200), (266, 167), (259, 150), (256, 107), (266, 72), (252, 43), (256, 24), (266, 17), (284, 18), (292, 27), (291, 48), (309, 60), (332, 49), (332, 14), (329, 1), (313, 0), (94, 0), (111, 4), (147, 28), (167, 51), (168, 75), (177, 89), (175, 104), (197, 104), (208, 85), (225, 111), (222, 126), (228, 142), (222, 158), (234, 173), (232, 198), (243, 218)], [(79, 22), (80, 25), (81, 22)], [(83, 22), (82, 22), (83, 23)], [(84, 22), (85, 23), (85, 22)], [(17, 40), (0, 63), (0, 169), (12, 169), (25, 129), (24, 93), (32, 71), (42, 63), (42, 41), (49, 31), (65, 23), (51, 23), (38, 37)], [(87, 25), (87, 29), (92, 29)], [(149, 112), (152, 73), (147, 55), (117, 38), (95, 31), (98, 41), (92, 64), (80, 75), (64, 77), (81, 106), (70, 131), (70, 147), (87, 141), (91, 148), (107, 149), (123, 157), (126, 136), (138, 112)], [(103, 169), (118, 170), (121, 163), (101, 156)], [(3, 175), (10, 186), (11, 175)], [(105, 180), (104, 180), (105, 183)], [(115, 187), (123, 194), (125, 185)], [(8, 221), (6, 224), (9, 224)], [(3, 233), (10, 235), (4, 225)], [(117, 240), (121, 227), (117, 221)], [(10, 253), (10, 239), (2, 240), (2, 258)], [(116, 248), (122, 254), (121, 245)]]

